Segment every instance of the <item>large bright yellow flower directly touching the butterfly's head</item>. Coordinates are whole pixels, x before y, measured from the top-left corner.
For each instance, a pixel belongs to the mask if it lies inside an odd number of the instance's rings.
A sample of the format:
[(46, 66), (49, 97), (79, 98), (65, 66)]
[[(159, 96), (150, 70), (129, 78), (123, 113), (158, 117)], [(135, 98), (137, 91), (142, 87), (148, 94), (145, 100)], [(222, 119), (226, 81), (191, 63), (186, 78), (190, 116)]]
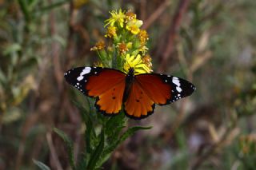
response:
[(146, 65), (140, 54), (136, 57), (129, 53), (126, 54), (125, 63), (123, 65), (124, 72), (128, 73), (130, 68), (134, 68), (134, 74), (150, 73), (151, 69)]

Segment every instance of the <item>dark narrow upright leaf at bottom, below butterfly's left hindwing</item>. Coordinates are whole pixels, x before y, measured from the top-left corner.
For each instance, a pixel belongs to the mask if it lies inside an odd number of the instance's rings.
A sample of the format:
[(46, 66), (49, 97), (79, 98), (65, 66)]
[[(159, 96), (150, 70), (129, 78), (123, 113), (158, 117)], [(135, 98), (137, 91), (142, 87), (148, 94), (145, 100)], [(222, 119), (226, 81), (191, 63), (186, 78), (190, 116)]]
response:
[(97, 148), (95, 149), (95, 151), (92, 153), (92, 155), (90, 156), (90, 160), (87, 166), (87, 169), (94, 169), (95, 165), (97, 164), (98, 160), (100, 160), (100, 156), (102, 154), (103, 148), (104, 148), (104, 129), (102, 128), (102, 132), (100, 134), (101, 140), (97, 146)]

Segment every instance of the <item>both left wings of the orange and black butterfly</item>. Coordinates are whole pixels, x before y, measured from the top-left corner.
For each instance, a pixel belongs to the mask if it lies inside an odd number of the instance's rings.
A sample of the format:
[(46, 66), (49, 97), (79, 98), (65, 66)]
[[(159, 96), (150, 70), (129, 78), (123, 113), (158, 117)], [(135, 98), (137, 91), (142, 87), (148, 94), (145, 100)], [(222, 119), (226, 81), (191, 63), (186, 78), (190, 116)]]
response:
[(116, 69), (101, 67), (78, 67), (64, 74), (66, 81), (83, 94), (96, 97), (96, 108), (107, 116), (122, 109), (126, 74)]

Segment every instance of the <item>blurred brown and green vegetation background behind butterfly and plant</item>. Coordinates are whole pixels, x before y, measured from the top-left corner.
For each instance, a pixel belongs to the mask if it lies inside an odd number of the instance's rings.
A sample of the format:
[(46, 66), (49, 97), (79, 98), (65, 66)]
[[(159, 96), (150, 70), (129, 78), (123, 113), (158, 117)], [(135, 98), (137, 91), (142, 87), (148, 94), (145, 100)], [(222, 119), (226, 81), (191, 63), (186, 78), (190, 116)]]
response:
[(85, 125), (63, 80), (93, 65), (110, 10), (133, 10), (150, 35), (156, 73), (186, 78), (191, 96), (129, 125), (153, 126), (119, 146), (104, 169), (256, 169), (256, 1), (0, 0), (0, 169), (70, 169), (57, 127)]

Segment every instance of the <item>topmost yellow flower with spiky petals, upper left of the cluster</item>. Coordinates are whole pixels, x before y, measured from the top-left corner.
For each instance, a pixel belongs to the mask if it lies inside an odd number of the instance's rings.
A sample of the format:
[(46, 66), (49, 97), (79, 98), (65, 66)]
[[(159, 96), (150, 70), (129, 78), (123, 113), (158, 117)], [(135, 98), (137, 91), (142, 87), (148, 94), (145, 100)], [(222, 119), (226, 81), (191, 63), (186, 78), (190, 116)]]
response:
[(105, 21), (106, 22), (105, 26), (108, 26), (108, 25), (114, 26), (114, 23), (117, 22), (119, 26), (123, 27), (123, 23), (125, 22), (126, 15), (122, 12), (122, 10), (121, 9), (119, 11), (112, 10), (110, 14), (111, 14), (111, 17)]

